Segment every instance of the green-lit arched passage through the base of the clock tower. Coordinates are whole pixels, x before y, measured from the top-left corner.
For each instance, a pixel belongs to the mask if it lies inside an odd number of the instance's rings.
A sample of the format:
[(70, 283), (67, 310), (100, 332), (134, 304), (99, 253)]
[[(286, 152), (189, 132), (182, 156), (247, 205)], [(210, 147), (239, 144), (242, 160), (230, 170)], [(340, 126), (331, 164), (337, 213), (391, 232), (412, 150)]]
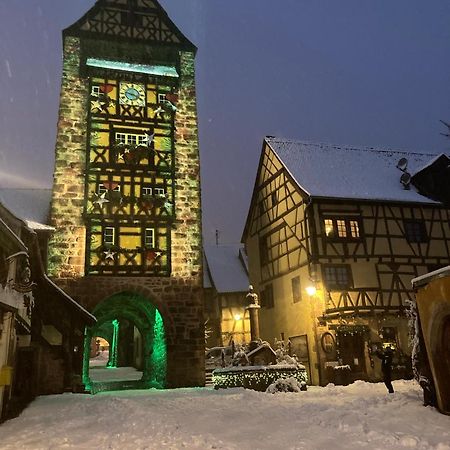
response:
[[(104, 334), (110, 329), (110, 351), (112, 358), (108, 365), (117, 367), (120, 361), (129, 361), (125, 347), (120, 347), (120, 324), (135, 327), (142, 338), (141, 363), (142, 378), (135, 383), (136, 388), (164, 388), (167, 372), (167, 348), (163, 318), (158, 309), (145, 297), (122, 292), (99, 303), (93, 314), (97, 318), (94, 327), (86, 329), (83, 361), (83, 383), (92, 391), (93, 383), (89, 376), (90, 342), (92, 337)], [(128, 384), (129, 385), (129, 384)], [(117, 386), (116, 386), (117, 388)]]

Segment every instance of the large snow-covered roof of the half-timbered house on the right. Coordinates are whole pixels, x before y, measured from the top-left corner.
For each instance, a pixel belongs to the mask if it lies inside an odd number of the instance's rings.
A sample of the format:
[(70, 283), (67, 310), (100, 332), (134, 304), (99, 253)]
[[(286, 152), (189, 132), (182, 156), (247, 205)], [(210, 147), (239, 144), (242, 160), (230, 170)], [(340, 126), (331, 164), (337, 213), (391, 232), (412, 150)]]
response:
[(357, 200), (385, 200), (439, 204), (404, 189), (401, 158), (408, 160), (407, 171), (414, 174), (436, 158), (436, 153), (409, 152), (371, 147), (301, 142), (266, 137), (266, 142), (299, 187), (311, 197)]

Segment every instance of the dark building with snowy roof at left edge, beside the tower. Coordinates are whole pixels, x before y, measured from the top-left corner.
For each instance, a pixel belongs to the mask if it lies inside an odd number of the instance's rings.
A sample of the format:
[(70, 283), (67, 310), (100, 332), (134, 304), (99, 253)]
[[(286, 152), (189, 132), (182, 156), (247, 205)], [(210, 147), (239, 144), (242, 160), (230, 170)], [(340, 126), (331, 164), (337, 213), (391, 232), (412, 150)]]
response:
[(0, 189), (0, 421), (37, 395), (83, 390), (88, 311), (45, 271), (50, 190)]

